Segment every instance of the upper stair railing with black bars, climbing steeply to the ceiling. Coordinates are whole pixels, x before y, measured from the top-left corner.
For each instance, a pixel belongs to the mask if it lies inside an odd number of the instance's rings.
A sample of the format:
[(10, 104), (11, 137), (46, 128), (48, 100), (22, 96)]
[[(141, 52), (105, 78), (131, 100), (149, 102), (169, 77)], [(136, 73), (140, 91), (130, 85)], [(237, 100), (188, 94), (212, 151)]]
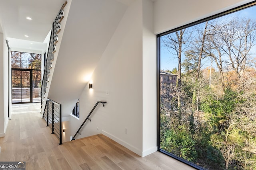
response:
[(60, 32), (60, 22), (64, 18), (64, 7), (66, 6), (67, 2), (65, 2), (58, 15), (56, 16), (54, 22), (52, 23), (52, 31), (50, 36), (50, 42), (48, 47), (48, 53), (46, 57), (46, 61), (44, 64), (44, 74), (42, 77), (42, 85), (41, 85), (41, 108), (46, 106), (46, 89), (48, 88), (49, 76), (51, 75), (52, 69), (52, 61), (54, 61), (54, 53), (56, 52), (56, 44), (58, 43), (58, 33)]

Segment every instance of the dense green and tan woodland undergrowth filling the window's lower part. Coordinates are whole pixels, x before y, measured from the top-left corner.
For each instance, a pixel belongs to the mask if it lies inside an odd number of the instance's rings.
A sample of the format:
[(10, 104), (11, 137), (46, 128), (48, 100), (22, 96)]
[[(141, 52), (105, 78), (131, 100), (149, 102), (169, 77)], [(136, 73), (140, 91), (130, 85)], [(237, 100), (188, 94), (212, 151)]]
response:
[(187, 73), (180, 115), (177, 94), (161, 98), (160, 147), (209, 170), (256, 170), (256, 95), (227, 87), (222, 94)]

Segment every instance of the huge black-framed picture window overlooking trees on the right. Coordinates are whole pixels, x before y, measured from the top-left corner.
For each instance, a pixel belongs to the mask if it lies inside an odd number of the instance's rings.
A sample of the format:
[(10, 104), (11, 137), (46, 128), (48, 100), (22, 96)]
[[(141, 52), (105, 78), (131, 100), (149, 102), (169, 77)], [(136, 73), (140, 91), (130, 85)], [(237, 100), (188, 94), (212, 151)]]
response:
[(256, 169), (254, 4), (157, 36), (161, 152), (198, 169)]

